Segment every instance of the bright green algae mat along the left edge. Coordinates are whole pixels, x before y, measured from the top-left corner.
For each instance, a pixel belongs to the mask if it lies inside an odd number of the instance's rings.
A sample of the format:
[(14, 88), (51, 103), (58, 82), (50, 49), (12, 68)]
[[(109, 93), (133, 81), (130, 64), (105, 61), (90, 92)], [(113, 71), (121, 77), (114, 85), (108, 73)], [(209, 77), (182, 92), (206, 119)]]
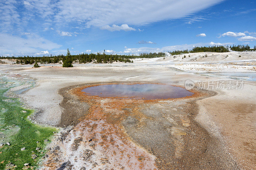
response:
[[(0, 169), (35, 169), (55, 128), (36, 125), (28, 119), (33, 110), (24, 109), (17, 98), (6, 97), (9, 89), (33, 81), (0, 73)], [(24, 164), (28, 164), (24, 166)]]

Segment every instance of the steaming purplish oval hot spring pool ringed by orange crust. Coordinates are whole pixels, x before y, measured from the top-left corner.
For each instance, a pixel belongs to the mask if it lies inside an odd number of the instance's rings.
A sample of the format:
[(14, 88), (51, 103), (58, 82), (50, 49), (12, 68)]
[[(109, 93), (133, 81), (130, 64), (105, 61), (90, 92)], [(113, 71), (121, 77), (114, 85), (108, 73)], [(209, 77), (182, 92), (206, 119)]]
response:
[(84, 88), (82, 92), (91, 96), (137, 100), (182, 98), (194, 94), (181, 87), (160, 84), (97, 85)]

